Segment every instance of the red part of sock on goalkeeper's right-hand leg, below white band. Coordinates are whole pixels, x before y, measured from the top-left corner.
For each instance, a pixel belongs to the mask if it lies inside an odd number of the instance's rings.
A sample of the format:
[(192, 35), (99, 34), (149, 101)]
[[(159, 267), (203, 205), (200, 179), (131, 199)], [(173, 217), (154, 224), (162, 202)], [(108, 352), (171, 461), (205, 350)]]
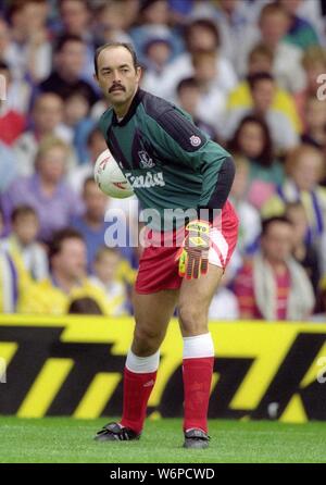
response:
[(208, 410), (214, 357), (184, 359), (184, 431), (199, 427), (208, 433)]

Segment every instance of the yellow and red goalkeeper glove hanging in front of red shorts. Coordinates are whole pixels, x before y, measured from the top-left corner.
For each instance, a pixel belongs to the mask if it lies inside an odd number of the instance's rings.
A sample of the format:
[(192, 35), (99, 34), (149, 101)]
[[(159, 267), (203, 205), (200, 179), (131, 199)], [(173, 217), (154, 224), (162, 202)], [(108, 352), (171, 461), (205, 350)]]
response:
[(199, 278), (209, 271), (210, 227), (205, 221), (191, 221), (187, 225), (188, 234), (177, 254), (181, 277)]

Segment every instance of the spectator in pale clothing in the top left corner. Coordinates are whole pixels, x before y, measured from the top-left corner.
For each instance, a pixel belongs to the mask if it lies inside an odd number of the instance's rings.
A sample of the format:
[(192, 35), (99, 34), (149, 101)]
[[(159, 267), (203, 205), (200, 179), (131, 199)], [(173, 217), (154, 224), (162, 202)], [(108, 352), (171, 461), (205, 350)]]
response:
[(45, 79), (51, 71), (52, 48), (47, 30), (47, 0), (13, 0), (10, 2), (9, 20), (11, 38), (10, 63), (15, 77), (25, 76), (32, 84)]

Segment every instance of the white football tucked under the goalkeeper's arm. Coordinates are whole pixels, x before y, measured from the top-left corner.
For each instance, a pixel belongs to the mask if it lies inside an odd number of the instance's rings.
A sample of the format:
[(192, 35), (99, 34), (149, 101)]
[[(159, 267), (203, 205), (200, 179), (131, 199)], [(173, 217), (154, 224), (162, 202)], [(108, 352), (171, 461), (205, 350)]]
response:
[(109, 149), (98, 157), (93, 176), (98, 187), (106, 196), (125, 199), (134, 195), (133, 187), (125, 178)]

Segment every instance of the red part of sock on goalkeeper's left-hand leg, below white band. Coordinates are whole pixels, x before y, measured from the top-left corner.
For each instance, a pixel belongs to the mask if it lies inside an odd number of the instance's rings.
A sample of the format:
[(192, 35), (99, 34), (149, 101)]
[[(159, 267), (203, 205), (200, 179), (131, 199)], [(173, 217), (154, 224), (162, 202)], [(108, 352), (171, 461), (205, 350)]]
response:
[(121, 424), (140, 433), (146, 419), (147, 403), (154, 387), (156, 372), (139, 374), (125, 368), (124, 408)]

